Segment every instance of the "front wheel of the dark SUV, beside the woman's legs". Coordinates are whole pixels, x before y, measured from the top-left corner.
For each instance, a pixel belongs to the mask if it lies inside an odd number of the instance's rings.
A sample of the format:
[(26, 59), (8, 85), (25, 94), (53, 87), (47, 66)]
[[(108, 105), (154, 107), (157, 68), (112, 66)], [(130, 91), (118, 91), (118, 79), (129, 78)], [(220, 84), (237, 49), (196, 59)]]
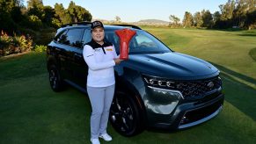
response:
[(122, 91), (115, 92), (110, 109), (110, 122), (118, 133), (129, 137), (143, 132), (142, 112), (134, 97)]

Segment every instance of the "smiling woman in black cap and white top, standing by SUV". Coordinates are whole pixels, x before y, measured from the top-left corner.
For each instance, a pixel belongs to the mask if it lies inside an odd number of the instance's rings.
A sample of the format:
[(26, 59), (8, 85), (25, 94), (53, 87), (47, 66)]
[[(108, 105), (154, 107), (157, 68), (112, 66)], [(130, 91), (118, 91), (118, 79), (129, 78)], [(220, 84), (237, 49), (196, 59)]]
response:
[(84, 61), (88, 65), (87, 93), (91, 102), (91, 143), (99, 144), (112, 137), (106, 133), (109, 109), (114, 93), (113, 66), (120, 64), (113, 44), (104, 40), (104, 26), (100, 21), (91, 24), (91, 42), (84, 46)]

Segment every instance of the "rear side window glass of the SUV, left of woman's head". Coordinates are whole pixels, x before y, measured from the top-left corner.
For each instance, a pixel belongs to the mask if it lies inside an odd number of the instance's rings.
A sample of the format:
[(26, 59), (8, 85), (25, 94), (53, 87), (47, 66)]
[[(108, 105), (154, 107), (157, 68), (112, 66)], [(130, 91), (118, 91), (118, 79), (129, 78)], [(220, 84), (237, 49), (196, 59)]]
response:
[(69, 29), (66, 34), (61, 35), (59, 42), (72, 47), (82, 47), (81, 36), (83, 32), (83, 28)]

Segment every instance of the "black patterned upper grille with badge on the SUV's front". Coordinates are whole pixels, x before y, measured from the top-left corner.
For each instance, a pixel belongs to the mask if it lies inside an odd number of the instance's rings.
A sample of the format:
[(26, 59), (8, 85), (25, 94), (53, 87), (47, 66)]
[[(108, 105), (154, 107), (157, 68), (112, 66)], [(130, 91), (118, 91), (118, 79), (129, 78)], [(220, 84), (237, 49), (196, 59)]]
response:
[(206, 80), (176, 82), (176, 89), (179, 90), (185, 99), (204, 97), (208, 91), (219, 89), (222, 80), (213, 77)]

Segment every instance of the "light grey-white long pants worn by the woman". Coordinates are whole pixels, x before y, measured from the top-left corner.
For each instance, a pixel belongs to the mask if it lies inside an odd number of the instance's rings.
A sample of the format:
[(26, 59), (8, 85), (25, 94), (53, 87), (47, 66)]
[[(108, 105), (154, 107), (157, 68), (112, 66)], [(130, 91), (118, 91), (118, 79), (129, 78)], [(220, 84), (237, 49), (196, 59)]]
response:
[(98, 139), (106, 133), (109, 109), (113, 100), (114, 84), (107, 87), (89, 87), (87, 93), (91, 101), (91, 139)]

